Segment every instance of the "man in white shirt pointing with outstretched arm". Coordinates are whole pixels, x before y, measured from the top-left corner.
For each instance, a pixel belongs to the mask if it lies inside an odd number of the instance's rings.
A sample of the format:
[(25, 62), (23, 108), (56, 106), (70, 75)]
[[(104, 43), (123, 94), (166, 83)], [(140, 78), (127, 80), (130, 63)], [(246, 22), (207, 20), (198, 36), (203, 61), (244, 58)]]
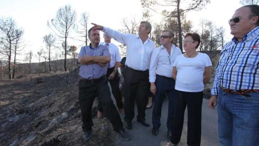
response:
[[(92, 23), (93, 24), (93, 23)], [(149, 65), (155, 43), (148, 35), (152, 26), (149, 22), (142, 21), (138, 29), (138, 35), (124, 34), (108, 27), (93, 24), (94, 30), (102, 30), (109, 37), (125, 44), (127, 47), (126, 66), (122, 72), (124, 77), (124, 112), (125, 127), (132, 129), (132, 119), (134, 118), (135, 100), (137, 103), (137, 122), (146, 127), (149, 124), (145, 119), (145, 109), (148, 100)]]

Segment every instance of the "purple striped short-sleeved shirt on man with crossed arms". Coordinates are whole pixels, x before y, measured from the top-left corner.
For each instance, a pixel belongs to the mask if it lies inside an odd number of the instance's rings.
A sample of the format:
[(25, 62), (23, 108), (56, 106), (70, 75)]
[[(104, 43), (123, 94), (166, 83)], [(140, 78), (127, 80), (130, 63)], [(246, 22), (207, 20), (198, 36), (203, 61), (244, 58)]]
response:
[[(97, 45), (96, 47), (92, 48), (90, 44), (89, 46), (81, 47), (81, 50), (78, 54), (78, 58), (83, 57), (85, 55), (111, 57), (109, 48), (104, 45)], [(101, 65), (99, 65), (99, 63), (93, 63), (89, 65), (82, 64), (79, 70), (79, 75), (86, 79), (98, 79), (106, 75), (107, 68), (107, 65), (102, 67)]]

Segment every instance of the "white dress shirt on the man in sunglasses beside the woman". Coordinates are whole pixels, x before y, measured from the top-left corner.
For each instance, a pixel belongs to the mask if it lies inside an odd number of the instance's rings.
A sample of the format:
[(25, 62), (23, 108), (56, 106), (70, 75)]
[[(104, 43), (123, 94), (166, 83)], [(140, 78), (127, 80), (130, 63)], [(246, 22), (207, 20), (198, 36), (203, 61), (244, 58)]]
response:
[(161, 45), (152, 53), (150, 68), (149, 68), (149, 82), (156, 81), (156, 74), (172, 78), (172, 70), (175, 58), (181, 55), (182, 51), (172, 44), (171, 54), (169, 55), (166, 48)]

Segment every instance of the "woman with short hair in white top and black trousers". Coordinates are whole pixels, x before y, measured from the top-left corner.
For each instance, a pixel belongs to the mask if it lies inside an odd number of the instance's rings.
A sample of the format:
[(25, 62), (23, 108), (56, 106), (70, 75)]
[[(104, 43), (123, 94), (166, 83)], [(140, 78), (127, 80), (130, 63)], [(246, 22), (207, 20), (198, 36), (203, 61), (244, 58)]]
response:
[(201, 109), (204, 84), (211, 78), (211, 61), (207, 54), (197, 52), (200, 35), (187, 33), (184, 40), (185, 53), (176, 57), (172, 77), (175, 79), (177, 98), (176, 117), (172, 128), (171, 145), (181, 139), (184, 112), (187, 105), (187, 144), (200, 145)]

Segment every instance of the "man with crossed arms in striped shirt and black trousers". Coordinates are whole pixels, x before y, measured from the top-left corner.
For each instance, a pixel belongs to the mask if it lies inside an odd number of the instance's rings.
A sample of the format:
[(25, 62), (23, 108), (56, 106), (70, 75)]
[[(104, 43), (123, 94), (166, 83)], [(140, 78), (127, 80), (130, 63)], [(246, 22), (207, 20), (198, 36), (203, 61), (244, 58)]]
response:
[(111, 60), (109, 48), (99, 45), (100, 34), (98, 30), (90, 28), (88, 37), (91, 41), (89, 46), (81, 48), (78, 62), (81, 64), (79, 75), (82, 77), (78, 83), (79, 104), (81, 109), (84, 131), (84, 141), (89, 140), (92, 134), (92, 105), (96, 96), (101, 101), (104, 114), (112, 123), (114, 131), (118, 132), (125, 140), (131, 137), (124, 130), (119, 113), (111, 99), (111, 93), (106, 78), (107, 63)]

